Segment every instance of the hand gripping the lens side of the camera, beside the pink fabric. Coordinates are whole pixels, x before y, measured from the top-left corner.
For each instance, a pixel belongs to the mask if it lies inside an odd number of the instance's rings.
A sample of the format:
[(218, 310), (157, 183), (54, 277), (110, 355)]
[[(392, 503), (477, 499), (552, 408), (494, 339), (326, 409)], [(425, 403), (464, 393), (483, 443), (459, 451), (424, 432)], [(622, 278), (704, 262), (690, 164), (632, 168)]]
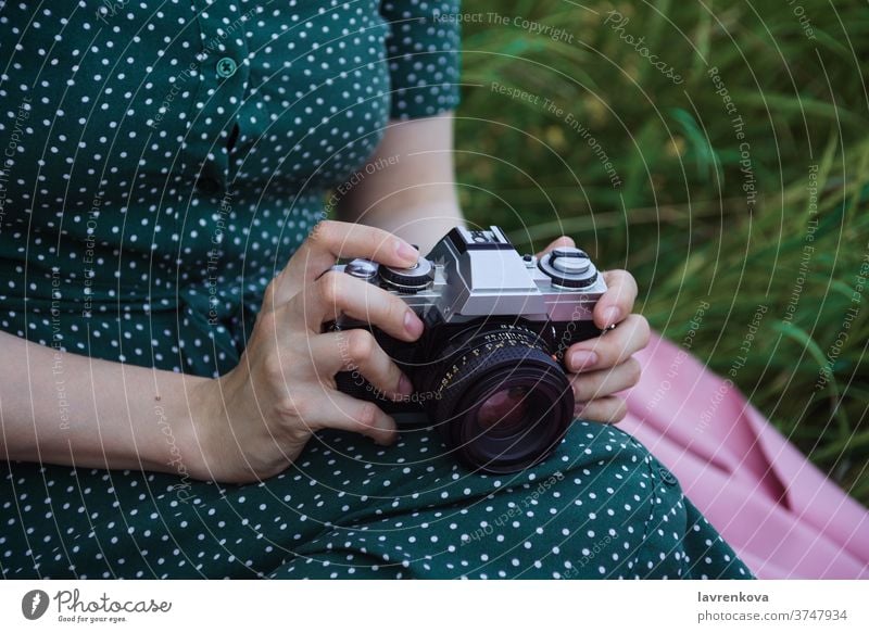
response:
[[(568, 237), (558, 238), (543, 253), (558, 246), (574, 246)], [(542, 253), (541, 253), (542, 254)], [(618, 422), (628, 413), (625, 400), (614, 395), (640, 381), (640, 363), (633, 354), (648, 343), (648, 321), (631, 314), (637, 299), (637, 282), (627, 270), (603, 274), (607, 290), (594, 306), (594, 324), (600, 337), (570, 345), (565, 366), (576, 398), (575, 415), (595, 422)]]

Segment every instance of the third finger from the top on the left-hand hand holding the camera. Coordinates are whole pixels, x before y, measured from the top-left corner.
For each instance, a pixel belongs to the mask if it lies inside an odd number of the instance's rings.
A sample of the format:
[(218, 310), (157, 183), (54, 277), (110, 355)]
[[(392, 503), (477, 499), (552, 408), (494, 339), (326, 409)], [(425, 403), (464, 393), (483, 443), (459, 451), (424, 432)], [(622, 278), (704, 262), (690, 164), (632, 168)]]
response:
[(311, 359), (318, 376), (352, 371), (393, 400), (413, 393), (411, 380), (377, 344), (368, 330), (329, 332), (311, 338)]

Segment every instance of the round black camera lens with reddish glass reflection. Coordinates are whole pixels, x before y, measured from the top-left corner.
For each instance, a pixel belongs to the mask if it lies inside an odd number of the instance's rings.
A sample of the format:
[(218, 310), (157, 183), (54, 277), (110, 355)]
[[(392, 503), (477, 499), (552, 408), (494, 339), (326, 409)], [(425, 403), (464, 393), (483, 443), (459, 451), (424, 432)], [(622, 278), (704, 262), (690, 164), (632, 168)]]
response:
[(487, 324), (453, 339), (432, 374), (433, 418), (475, 470), (515, 472), (545, 458), (574, 417), (574, 392), (532, 331)]

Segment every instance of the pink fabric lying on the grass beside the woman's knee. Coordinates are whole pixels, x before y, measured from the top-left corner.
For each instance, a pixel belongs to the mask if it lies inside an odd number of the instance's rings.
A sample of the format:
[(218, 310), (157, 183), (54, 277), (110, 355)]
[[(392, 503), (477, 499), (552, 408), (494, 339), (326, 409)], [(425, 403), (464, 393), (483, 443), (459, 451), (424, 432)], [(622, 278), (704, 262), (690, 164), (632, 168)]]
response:
[(869, 578), (869, 512), (685, 350), (653, 336), (619, 425), (763, 579)]

